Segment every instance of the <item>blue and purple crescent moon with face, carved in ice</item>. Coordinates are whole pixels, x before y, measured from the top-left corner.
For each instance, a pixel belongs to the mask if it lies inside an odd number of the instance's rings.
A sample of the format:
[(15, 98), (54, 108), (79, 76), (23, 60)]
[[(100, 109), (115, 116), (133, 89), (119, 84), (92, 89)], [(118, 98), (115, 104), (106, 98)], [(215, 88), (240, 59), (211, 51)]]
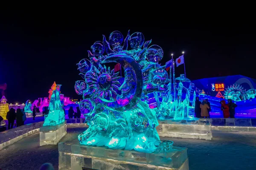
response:
[(117, 62), (124, 68), (125, 81), (119, 90), (122, 95), (116, 101), (99, 97), (99, 102), (111, 111), (127, 111), (133, 108), (140, 100), (143, 88), (143, 77), (140, 65), (126, 54), (114, 54), (105, 58), (102, 63)]

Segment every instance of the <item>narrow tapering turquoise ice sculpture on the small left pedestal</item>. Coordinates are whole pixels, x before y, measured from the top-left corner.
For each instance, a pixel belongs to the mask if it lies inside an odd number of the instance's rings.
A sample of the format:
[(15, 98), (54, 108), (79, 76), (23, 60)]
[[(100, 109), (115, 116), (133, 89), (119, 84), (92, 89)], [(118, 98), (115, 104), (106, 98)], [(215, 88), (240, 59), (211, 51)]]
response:
[(65, 113), (61, 107), (60, 100), (61, 85), (57, 85), (52, 91), (52, 96), (49, 103), (49, 114), (45, 117), (43, 126), (56, 126), (65, 121)]

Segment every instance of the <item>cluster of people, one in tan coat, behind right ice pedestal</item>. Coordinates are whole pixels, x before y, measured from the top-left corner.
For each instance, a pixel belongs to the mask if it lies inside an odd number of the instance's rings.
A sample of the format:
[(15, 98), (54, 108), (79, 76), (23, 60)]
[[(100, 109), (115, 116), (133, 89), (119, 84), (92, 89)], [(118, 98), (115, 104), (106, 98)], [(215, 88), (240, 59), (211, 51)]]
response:
[(195, 117), (197, 118), (210, 118), (211, 104), (208, 99), (203, 102), (199, 101), (199, 97), (195, 98)]

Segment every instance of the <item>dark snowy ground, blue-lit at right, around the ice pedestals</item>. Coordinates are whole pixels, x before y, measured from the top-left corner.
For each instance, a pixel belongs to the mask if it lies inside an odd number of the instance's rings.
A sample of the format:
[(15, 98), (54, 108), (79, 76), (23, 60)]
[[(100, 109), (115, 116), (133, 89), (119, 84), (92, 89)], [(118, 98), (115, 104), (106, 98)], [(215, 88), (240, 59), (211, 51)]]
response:
[[(77, 139), (84, 127), (68, 128), (61, 142)], [(163, 138), (174, 141), (174, 146), (187, 147), (189, 170), (255, 170), (256, 133), (213, 132), (213, 140)], [(58, 170), (58, 145), (39, 146), (39, 133), (21, 139), (0, 150), (3, 170), (38, 170), (50, 162)]]

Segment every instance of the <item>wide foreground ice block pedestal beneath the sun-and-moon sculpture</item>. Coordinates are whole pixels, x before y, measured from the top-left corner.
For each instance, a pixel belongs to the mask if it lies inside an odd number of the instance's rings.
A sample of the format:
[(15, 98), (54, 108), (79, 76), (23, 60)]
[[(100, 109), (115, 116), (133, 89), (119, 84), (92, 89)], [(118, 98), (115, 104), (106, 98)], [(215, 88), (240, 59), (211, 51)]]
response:
[(111, 150), (92, 147), (78, 140), (58, 144), (59, 170), (189, 170), (187, 148), (173, 147), (166, 153)]

